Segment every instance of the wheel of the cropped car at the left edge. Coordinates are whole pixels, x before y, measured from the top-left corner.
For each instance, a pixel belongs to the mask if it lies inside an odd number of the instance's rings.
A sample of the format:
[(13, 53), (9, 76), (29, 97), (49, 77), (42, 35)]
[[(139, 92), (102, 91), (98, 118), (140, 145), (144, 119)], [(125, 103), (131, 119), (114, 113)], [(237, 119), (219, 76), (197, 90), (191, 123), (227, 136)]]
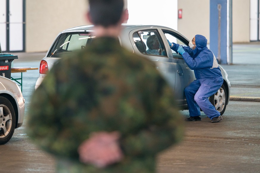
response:
[(15, 111), (12, 103), (0, 96), (0, 145), (7, 143), (15, 130)]

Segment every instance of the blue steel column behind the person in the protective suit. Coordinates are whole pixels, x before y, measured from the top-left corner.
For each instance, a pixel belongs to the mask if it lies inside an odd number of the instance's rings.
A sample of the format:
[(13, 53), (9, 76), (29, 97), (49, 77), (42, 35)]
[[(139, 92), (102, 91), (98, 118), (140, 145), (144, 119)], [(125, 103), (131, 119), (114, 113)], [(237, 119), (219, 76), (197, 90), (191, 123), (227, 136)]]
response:
[(232, 63), (232, 0), (210, 0), (210, 49), (219, 64)]

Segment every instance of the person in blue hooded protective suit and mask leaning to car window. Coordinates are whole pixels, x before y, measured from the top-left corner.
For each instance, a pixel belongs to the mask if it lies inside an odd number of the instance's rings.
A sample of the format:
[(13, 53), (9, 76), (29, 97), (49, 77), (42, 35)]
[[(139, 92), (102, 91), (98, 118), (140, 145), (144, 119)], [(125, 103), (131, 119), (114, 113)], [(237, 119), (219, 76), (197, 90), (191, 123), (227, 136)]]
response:
[(219, 122), (223, 118), (208, 97), (218, 91), (223, 84), (223, 77), (216, 57), (207, 47), (207, 39), (203, 35), (195, 35), (189, 47), (175, 43), (169, 45), (172, 50), (182, 55), (196, 77), (184, 90), (190, 115), (185, 121), (200, 121), (201, 108), (211, 122)]

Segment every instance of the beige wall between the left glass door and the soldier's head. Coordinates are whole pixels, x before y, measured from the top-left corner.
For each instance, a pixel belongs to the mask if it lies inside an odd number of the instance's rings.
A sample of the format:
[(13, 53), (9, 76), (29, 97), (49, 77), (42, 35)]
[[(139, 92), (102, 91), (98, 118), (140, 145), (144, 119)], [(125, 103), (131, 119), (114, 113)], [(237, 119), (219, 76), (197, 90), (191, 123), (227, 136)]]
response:
[(57, 34), (85, 25), (85, 0), (26, 1), (26, 52), (47, 51)]

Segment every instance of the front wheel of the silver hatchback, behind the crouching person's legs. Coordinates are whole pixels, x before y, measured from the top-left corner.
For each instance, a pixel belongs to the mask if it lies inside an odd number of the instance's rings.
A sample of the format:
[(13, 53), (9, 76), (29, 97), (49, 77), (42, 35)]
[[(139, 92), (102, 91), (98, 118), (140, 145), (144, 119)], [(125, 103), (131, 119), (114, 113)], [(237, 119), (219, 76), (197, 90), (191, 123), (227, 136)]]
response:
[(223, 84), (214, 95), (209, 97), (209, 101), (215, 106), (216, 110), (220, 112), (220, 115), (223, 115), (225, 112), (227, 100), (227, 92)]

